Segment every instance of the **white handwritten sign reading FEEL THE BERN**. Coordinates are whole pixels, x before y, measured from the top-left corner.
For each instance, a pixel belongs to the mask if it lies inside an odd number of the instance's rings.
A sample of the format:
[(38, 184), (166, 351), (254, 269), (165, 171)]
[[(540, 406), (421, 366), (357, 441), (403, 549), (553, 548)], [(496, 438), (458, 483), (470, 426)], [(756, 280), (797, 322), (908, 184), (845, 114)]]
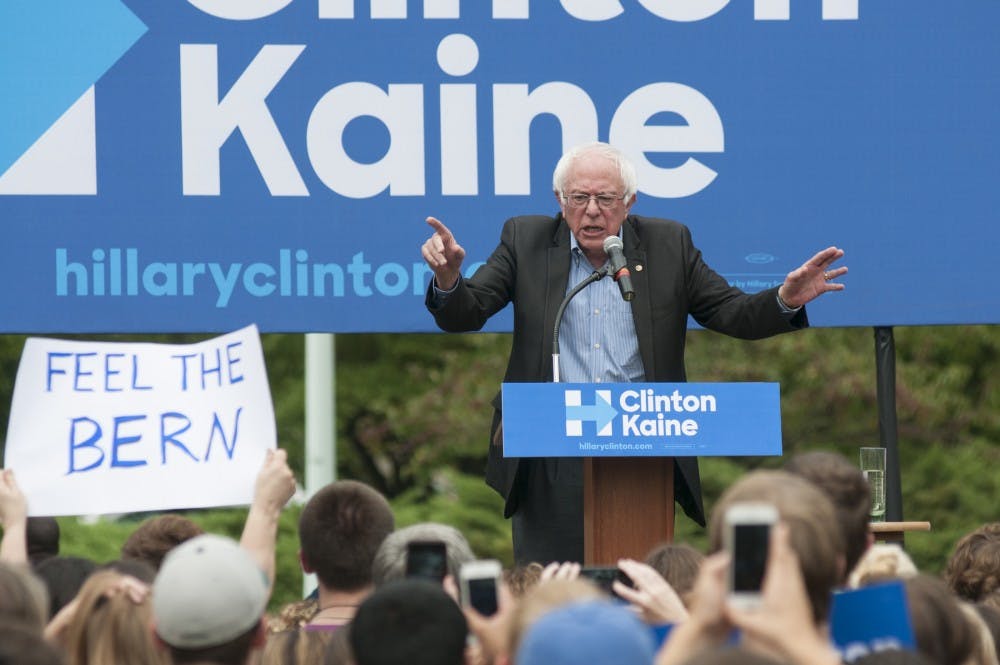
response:
[(184, 345), (29, 338), (4, 467), (31, 515), (239, 505), (275, 438), (256, 326)]

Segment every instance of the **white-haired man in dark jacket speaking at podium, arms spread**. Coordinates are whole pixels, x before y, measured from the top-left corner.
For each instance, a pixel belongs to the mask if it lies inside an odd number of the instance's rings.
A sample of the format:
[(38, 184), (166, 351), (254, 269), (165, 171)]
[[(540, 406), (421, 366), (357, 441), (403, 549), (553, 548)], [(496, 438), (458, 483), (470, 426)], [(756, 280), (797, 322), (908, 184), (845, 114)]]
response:
[[(500, 244), (468, 279), (461, 275), (465, 250), (443, 223), (427, 219), (434, 230), (421, 248), (434, 272), (427, 308), (442, 330), (479, 330), (514, 303), (505, 382), (552, 381), (556, 310), (570, 289), (605, 267), (608, 238), (621, 240), (627, 262), (621, 271), (614, 266), (615, 274), (630, 279), (602, 279), (570, 301), (560, 329), (559, 378), (564, 382), (685, 381), (689, 314), (710, 330), (759, 339), (806, 327), (803, 306), (844, 288), (831, 281), (847, 272), (831, 267), (844, 255), (836, 247), (790, 272), (777, 288), (751, 295), (731, 287), (702, 260), (687, 227), (630, 214), (635, 169), (608, 144), (568, 151), (556, 165), (552, 184), (560, 213), (507, 220)], [(493, 405), (486, 482), (506, 502), (515, 559), (582, 561), (582, 460), (504, 458), (499, 395)], [(674, 488), (684, 512), (704, 525), (697, 459), (676, 459)]]

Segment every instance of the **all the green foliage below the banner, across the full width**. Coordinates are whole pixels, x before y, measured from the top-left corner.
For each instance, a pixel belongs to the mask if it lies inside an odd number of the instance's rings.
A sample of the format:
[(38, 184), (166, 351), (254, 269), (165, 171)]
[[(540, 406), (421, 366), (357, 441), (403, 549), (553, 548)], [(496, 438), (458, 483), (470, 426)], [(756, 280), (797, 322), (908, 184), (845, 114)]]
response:
[[(959, 536), (997, 519), (993, 500), (1000, 495), (1000, 474), (992, 469), (1000, 461), (1000, 327), (898, 328), (895, 341), (904, 517), (928, 520), (933, 529), (910, 534), (907, 547), (923, 570), (939, 572)], [(22, 343), (23, 337), (0, 337), (0, 408), (9, 408)], [(279, 440), (300, 479), (303, 347), (301, 335), (264, 336)], [(859, 447), (877, 444), (880, 436), (874, 347), (868, 328), (813, 329), (752, 342), (693, 331), (688, 378), (777, 381), (785, 456), (824, 449), (854, 461)], [(510, 336), (340, 335), (336, 348), (340, 477), (384, 492), (400, 525), (454, 524), (479, 556), (509, 563), (510, 527), (499, 497), (483, 484), (482, 471), (490, 401), (503, 376)], [(4, 416), (0, 425), (6, 424)], [(781, 458), (702, 459), (707, 510), (748, 470), (781, 463)], [(287, 510), (281, 522), (276, 604), (301, 593), (297, 513)], [(190, 514), (206, 529), (236, 537), (245, 517), (241, 510)], [(97, 560), (115, 558), (135, 526), (61, 523), (64, 552)], [(680, 514), (675, 538), (699, 547), (706, 542), (704, 531)]]

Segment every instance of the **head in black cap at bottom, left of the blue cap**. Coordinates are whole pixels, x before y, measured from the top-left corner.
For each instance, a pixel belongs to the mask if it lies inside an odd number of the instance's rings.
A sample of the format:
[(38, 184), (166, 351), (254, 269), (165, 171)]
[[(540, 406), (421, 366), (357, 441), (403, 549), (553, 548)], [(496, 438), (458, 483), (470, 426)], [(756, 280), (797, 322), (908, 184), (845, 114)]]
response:
[(465, 616), (439, 585), (402, 579), (361, 603), (348, 638), (356, 665), (462, 665), (467, 634)]

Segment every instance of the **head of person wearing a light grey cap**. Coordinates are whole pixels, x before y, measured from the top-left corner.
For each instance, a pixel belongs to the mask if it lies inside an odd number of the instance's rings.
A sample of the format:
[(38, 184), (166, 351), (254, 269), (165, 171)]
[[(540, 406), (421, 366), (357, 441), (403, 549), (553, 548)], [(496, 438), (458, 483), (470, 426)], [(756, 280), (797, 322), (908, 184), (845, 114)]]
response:
[(270, 584), (253, 557), (212, 534), (178, 545), (153, 583), (153, 628), (173, 663), (243, 665), (264, 646)]

